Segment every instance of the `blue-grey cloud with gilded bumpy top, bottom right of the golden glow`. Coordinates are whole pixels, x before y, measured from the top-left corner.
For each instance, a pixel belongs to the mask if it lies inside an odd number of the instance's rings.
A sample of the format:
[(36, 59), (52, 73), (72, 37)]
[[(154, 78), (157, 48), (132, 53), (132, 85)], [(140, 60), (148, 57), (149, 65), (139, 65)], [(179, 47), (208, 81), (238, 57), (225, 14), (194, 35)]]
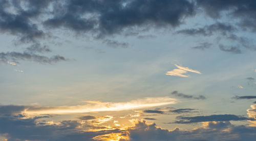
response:
[(234, 126), (230, 122), (209, 122), (205, 127), (193, 130), (172, 131), (157, 127), (156, 124), (147, 124), (138, 121), (134, 127), (129, 128), (130, 140), (254, 140), (256, 137), (255, 127)]

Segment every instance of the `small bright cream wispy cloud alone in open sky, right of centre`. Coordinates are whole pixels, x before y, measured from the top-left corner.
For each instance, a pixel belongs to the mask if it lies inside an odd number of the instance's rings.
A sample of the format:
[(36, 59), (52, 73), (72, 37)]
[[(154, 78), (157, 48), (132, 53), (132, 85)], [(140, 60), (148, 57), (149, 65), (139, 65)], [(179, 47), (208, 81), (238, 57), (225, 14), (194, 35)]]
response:
[(193, 72), (193, 73), (201, 74), (198, 70), (193, 70), (193, 69), (188, 68), (188, 67), (179, 66), (177, 64), (175, 64), (175, 66), (178, 67), (179, 69), (174, 69), (174, 70), (171, 70), (169, 72), (166, 72), (165, 75), (188, 77), (188, 76), (182, 75), (182, 74), (186, 74), (187, 72)]

